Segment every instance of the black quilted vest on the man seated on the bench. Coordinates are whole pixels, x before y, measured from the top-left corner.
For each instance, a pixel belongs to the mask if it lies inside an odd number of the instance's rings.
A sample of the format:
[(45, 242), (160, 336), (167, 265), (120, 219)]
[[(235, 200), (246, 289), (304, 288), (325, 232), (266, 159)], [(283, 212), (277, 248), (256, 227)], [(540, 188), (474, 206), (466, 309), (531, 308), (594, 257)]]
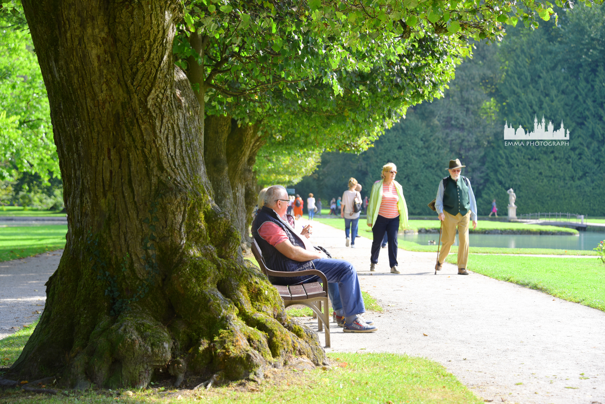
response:
[[(292, 228), (292, 226), (290, 226), (290, 224), (284, 222), (284, 220), (277, 216), (277, 213), (275, 213), (273, 209), (267, 208), (266, 206), (261, 208), (257, 211), (257, 217), (255, 217), (254, 221), (252, 222), (252, 236), (255, 240), (257, 240), (258, 247), (260, 247), (265, 263), (270, 270), (280, 272), (297, 272), (315, 269), (313, 261), (298, 262), (290, 259), (284, 256), (284, 254), (280, 253), (277, 248), (266, 242), (263, 237), (259, 236), (258, 228), (260, 228), (264, 222), (272, 222), (283, 228), (292, 245), (301, 248), (305, 247), (304, 242), (302, 242), (301, 239), (302, 236), (296, 234), (296, 231)], [(269, 276), (269, 282), (273, 283), (273, 285), (296, 285), (297, 283), (304, 282), (304, 280), (307, 280), (313, 276), (314, 275), (292, 277)]]

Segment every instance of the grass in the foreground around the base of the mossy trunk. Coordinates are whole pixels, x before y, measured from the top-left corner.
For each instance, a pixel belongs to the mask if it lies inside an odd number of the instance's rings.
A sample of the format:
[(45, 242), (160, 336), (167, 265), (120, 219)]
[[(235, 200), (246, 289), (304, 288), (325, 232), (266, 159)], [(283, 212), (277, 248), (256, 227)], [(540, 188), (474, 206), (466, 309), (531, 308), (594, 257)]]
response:
[[(19, 356), (34, 325), (0, 340), (0, 352), (10, 360)], [(363, 344), (362, 344), (363, 345)], [(360, 346), (360, 351), (370, 345)], [(120, 395), (118, 391), (95, 389), (86, 391), (64, 390), (57, 396), (37, 396), (35, 400), (46, 404), (57, 403), (207, 403), (234, 402), (264, 404), (290, 402), (301, 403), (360, 402), (384, 403), (439, 403), (479, 404), (479, 400), (456, 377), (437, 362), (420, 357), (389, 353), (330, 353), (332, 369), (296, 370), (292, 368), (269, 369), (265, 379), (255, 382), (226, 382), (209, 390), (177, 390), (169, 385), (171, 380), (157, 383), (150, 388), (131, 389), (133, 396)], [(52, 388), (53, 386), (47, 386)], [(166, 393), (171, 394), (167, 396)], [(174, 394), (173, 394), (174, 393)], [(180, 397), (179, 397), (180, 396)], [(30, 403), (32, 398), (19, 389), (0, 391), (2, 403)]]

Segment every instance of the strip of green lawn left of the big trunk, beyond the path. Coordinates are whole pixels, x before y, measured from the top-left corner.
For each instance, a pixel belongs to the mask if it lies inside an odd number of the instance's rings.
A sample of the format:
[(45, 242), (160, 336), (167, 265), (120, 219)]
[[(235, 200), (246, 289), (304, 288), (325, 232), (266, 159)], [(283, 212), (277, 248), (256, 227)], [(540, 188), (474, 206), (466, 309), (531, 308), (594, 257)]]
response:
[(67, 225), (0, 227), (0, 261), (64, 248), (66, 233)]

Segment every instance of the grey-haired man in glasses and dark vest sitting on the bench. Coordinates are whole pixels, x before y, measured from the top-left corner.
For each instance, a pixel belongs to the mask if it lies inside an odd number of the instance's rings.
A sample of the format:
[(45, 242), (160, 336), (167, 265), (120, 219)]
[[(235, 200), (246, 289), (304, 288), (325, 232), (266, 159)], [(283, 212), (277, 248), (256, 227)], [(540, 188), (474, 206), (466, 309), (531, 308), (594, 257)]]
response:
[(264, 206), (252, 223), (252, 236), (257, 240), (263, 258), (273, 271), (292, 272), (292, 277), (270, 277), (276, 285), (301, 285), (321, 282), (318, 276), (296, 276), (297, 271), (316, 269), (328, 280), (336, 323), (345, 333), (371, 333), (378, 330), (371, 320), (364, 320), (364, 299), (353, 265), (345, 260), (329, 258), (308, 240), (311, 225), (301, 233), (294, 230), (294, 219), (286, 214), (288, 193), (281, 185), (267, 188)]

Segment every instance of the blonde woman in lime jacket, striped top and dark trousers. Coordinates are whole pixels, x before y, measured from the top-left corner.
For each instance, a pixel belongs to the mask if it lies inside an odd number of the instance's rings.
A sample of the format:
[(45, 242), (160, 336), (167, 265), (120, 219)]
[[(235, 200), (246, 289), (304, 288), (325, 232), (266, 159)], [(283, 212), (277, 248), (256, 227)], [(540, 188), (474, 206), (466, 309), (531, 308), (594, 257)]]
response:
[(388, 265), (391, 274), (397, 270), (397, 230), (408, 228), (408, 207), (405, 204), (404, 190), (395, 180), (397, 166), (387, 163), (382, 166), (381, 180), (374, 182), (368, 202), (368, 226), (372, 228), (373, 240), (370, 257), (370, 271), (376, 271), (378, 254), (385, 231), (388, 239)]

